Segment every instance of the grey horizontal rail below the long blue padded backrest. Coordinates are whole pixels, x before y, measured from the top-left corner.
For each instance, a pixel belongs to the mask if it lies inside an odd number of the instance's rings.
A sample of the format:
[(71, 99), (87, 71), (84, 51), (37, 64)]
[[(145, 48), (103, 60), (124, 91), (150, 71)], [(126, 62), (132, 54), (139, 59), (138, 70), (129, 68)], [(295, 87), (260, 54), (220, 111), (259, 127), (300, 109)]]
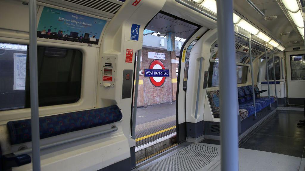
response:
[[(81, 136), (81, 137), (76, 137), (76, 138), (71, 138), (71, 139), (64, 140), (64, 141), (59, 141), (59, 142), (54, 142), (54, 143), (50, 143), (50, 144), (46, 144), (46, 145), (41, 145), (40, 150), (43, 150), (43, 149), (46, 149), (46, 148), (52, 148), (52, 147), (55, 147), (55, 146), (58, 146), (58, 145), (63, 145), (63, 144), (67, 144), (67, 143), (74, 142), (74, 141), (83, 140), (83, 139), (86, 139), (86, 138), (95, 137), (95, 136), (106, 134), (106, 133), (109, 133), (109, 132), (115, 132), (117, 130), (118, 130), (118, 128), (114, 125), (110, 129), (105, 130), (105, 131), (100, 131), (100, 132), (84, 135), (84, 136)], [(24, 149), (24, 150), (13, 152), (13, 154), (14, 155), (21, 155), (21, 154), (27, 154), (27, 153), (30, 153), (30, 152), (32, 152), (32, 148), (27, 148), (27, 149)]]

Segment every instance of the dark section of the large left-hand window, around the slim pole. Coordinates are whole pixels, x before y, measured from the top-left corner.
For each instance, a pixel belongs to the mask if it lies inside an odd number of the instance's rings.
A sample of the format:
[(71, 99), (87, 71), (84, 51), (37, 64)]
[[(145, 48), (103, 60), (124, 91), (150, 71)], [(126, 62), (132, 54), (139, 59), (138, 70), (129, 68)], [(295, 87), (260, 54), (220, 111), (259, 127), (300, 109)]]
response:
[[(38, 47), (37, 56), (39, 106), (77, 102), (81, 96), (81, 51)], [(27, 63), (27, 76), (30, 73), (28, 68)], [(26, 83), (29, 85), (29, 79)], [(29, 86), (26, 90), (29, 90)], [(29, 91), (27, 93), (29, 97)], [(26, 102), (26, 107), (30, 107), (30, 98)]]

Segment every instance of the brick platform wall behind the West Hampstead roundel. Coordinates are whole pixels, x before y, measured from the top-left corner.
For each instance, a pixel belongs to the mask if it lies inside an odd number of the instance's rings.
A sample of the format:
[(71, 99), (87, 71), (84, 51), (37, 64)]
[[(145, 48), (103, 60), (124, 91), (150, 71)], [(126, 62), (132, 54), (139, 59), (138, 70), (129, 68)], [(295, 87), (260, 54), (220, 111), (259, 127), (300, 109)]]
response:
[[(145, 48), (142, 49), (142, 66), (141, 69), (144, 71), (145, 68), (149, 68), (150, 63), (154, 59), (148, 58), (148, 52), (158, 52), (165, 54), (165, 60), (160, 60), (163, 62), (165, 69), (170, 70), (170, 77), (165, 78), (165, 82), (160, 87), (155, 87), (150, 82), (149, 78), (143, 77), (143, 106), (167, 103), (173, 100), (173, 91), (172, 91), (172, 73), (171, 73), (171, 52), (166, 50)], [(176, 70), (176, 68), (174, 68)], [(176, 78), (176, 77), (174, 77)], [(139, 97), (141, 98), (141, 97)], [(139, 99), (140, 100), (140, 99)]]

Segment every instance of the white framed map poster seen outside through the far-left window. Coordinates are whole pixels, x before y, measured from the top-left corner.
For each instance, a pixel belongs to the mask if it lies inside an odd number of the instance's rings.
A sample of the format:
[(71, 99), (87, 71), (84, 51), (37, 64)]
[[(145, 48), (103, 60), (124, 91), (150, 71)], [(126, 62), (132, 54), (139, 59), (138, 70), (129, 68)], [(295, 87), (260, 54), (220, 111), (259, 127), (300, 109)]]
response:
[(27, 54), (14, 53), (14, 90), (25, 90)]

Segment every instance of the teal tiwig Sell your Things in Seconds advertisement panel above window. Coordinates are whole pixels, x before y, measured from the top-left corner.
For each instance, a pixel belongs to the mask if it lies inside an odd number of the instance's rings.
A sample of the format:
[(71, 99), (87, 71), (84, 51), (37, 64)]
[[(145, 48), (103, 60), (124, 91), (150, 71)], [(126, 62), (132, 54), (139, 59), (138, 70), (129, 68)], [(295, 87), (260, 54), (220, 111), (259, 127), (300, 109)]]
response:
[(106, 23), (106, 20), (44, 7), (38, 23), (37, 37), (98, 44)]

